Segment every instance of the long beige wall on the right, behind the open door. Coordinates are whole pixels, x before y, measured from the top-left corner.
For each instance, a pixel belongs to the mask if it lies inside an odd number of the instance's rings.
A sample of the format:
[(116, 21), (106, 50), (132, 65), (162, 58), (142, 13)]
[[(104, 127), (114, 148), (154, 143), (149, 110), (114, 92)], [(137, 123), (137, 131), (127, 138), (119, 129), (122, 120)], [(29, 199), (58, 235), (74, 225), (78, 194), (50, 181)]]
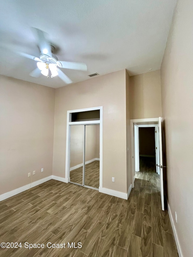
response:
[(193, 1), (180, 0), (161, 65), (167, 198), (184, 257), (193, 253)]

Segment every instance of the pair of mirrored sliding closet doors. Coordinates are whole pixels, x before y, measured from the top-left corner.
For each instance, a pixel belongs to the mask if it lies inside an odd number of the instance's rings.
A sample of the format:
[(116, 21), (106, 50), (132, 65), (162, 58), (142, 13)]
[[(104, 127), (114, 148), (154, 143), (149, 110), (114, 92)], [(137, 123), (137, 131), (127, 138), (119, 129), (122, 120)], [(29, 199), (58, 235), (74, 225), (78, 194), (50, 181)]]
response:
[(70, 126), (70, 182), (99, 189), (100, 125)]

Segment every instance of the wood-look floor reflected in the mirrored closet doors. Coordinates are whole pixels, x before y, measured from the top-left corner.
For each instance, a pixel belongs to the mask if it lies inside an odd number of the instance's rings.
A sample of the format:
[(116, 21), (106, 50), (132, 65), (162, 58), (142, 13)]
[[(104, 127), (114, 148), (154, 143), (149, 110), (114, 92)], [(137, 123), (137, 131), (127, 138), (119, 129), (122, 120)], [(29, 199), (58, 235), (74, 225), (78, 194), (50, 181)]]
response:
[[(99, 163), (93, 161), (85, 165), (84, 185), (99, 188)], [(82, 185), (83, 167), (77, 168), (70, 172), (70, 181)]]

